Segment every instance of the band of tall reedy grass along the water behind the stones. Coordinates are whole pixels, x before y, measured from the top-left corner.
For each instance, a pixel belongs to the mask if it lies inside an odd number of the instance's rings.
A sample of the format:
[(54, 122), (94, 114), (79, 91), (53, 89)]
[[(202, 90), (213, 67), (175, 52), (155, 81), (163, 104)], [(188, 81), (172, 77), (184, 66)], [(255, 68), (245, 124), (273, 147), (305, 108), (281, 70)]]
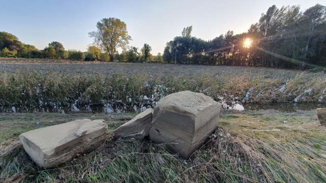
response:
[[(311, 92), (307, 92), (309, 89)], [(219, 76), (89, 74), (52, 70), (0, 73), (0, 106), (3, 107), (143, 105), (153, 104), (166, 95), (183, 90), (204, 93), (216, 101), (324, 102), (326, 80), (322, 73), (306, 72), (287, 79), (270, 78), (263, 73)], [(248, 100), (243, 100), (247, 94)]]

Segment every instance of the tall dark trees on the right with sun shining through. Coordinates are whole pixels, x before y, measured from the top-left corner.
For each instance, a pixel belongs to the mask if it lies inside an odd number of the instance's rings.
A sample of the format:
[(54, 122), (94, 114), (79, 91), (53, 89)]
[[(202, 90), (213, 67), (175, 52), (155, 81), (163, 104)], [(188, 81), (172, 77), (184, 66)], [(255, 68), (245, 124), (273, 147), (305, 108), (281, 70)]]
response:
[(279, 9), (273, 5), (242, 34), (228, 31), (205, 41), (192, 37), (191, 32), (192, 26), (186, 27), (182, 36), (167, 42), (165, 62), (304, 69), (326, 66), (326, 7), (320, 4), (305, 11), (300, 6)]

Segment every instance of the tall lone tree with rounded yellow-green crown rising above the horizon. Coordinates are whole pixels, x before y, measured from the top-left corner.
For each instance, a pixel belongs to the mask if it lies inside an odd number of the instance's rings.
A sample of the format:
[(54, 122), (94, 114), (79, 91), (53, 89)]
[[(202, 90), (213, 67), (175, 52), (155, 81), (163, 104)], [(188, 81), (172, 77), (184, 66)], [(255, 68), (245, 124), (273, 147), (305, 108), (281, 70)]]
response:
[(97, 22), (96, 27), (97, 31), (88, 34), (110, 55), (112, 62), (116, 49), (119, 47), (125, 49), (129, 40), (132, 40), (128, 35), (127, 25), (118, 18), (103, 18)]

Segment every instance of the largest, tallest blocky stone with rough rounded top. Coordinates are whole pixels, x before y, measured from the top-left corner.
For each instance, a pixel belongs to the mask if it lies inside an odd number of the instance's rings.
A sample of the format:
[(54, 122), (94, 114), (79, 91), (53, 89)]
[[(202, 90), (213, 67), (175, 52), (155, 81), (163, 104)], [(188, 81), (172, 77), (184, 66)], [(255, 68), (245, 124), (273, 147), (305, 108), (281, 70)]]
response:
[(168, 95), (155, 106), (149, 136), (188, 159), (216, 130), (220, 111), (221, 104), (204, 94), (184, 91)]

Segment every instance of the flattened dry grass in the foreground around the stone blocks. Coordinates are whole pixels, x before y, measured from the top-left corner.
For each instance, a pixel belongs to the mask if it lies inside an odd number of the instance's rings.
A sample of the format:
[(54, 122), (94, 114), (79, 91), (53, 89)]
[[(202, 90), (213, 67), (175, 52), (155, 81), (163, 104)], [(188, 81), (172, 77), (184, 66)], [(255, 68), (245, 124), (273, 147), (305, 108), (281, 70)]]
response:
[[(3, 113), (0, 182), (326, 182), (326, 128), (315, 112), (223, 110), (214, 136), (186, 161), (164, 144), (112, 140), (135, 114)], [(24, 153), (18, 134), (79, 118), (108, 124), (97, 150), (50, 170)]]

